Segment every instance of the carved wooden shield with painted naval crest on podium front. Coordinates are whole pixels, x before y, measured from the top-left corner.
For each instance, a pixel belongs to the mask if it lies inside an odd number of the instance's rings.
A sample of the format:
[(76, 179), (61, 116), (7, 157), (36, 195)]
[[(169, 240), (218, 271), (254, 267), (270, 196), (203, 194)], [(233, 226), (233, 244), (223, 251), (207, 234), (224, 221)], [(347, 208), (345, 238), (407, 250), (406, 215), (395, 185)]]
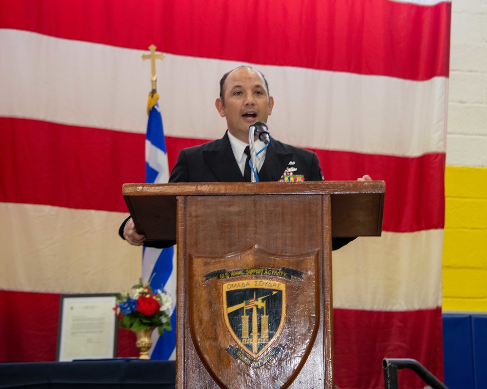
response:
[(191, 336), (213, 379), (229, 389), (289, 385), (318, 331), (318, 253), (254, 247), (189, 260)]

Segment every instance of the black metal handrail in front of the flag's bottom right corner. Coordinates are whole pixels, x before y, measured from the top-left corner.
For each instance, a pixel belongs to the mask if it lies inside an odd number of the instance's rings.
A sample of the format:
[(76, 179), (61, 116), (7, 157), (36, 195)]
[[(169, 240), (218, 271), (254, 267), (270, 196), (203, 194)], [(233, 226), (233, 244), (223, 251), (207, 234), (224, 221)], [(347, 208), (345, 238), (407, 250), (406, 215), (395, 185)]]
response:
[(382, 361), (382, 368), (384, 369), (385, 389), (398, 389), (398, 369), (411, 369), (433, 389), (448, 389), (445, 384), (443, 384), (438, 378), (433, 375), (433, 373), (431, 373), (431, 371), (426, 369), (415, 359), (384, 358), (384, 360)]

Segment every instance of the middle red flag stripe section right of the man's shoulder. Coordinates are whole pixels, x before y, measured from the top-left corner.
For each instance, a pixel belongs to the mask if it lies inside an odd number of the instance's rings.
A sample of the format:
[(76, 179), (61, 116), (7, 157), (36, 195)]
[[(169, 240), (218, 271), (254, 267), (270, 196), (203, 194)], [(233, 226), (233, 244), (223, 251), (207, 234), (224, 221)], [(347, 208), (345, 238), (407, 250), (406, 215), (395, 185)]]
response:
[(373, 179), (386, 181), (384, 231), (412, 232), (444, 228), (444, 153), (405, 158), (314, 151), (318, 154), (326, 180), (355, 180), (368, 174)]

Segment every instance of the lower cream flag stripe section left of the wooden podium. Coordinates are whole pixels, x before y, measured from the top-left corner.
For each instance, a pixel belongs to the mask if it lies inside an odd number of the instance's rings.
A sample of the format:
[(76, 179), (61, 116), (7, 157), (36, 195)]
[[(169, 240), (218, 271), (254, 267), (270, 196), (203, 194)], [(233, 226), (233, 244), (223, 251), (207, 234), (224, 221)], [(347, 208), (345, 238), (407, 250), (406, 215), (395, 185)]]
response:
[(140, 274), (142, 250), (118, 236), (125, 217), (121, 212), (0, 202), (0, 234), (9, 242), (1, 248), (1, 288), (130, 291)]

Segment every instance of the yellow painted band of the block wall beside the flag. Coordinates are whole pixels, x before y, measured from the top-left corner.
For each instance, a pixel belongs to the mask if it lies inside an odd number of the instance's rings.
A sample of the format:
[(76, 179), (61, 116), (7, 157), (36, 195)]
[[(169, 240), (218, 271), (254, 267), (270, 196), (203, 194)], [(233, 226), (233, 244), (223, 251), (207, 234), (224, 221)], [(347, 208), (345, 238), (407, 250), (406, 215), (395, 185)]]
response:
[(443, 309), (487, 311), (487, 168), (445, 171)]

